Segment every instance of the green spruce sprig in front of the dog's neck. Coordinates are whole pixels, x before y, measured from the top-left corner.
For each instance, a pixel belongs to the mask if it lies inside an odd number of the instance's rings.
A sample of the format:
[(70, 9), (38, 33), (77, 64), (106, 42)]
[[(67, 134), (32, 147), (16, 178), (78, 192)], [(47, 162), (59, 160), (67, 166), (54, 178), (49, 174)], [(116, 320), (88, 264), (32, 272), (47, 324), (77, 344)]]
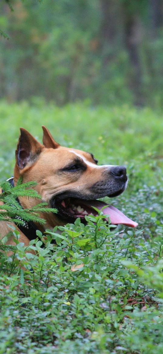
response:
[[(45, 219), (41, 218), (39, 213), (57, 212), (57, 209), (48, 207), (46, 202), (40, 202), (28, 209), (23, 209), (23, 207), (19, 204), (17, 201), (19, 196), (41, 199), (41, 196), (37, 193), (37, 191), (35, 189), (31, 189), (31, 187), (34, 187), (36, 184), (37, 183), (34, 181), (22, 183), (21, 179), (18, 180), (16, 187), (12, 187), (9, 182), (1, 183), (1, 188), (3, 190), (0, 194), (0, 201), (3, 203), (0, 205), (1, 221), (13, 221), (20, 224), (23, 224), (24, 221), (33, 221), (39, 222), (40, 224), (45, 224)], [(21, 219), (18, 221), (17, 217), (23, 218), (23, 221), (21, 221)]]

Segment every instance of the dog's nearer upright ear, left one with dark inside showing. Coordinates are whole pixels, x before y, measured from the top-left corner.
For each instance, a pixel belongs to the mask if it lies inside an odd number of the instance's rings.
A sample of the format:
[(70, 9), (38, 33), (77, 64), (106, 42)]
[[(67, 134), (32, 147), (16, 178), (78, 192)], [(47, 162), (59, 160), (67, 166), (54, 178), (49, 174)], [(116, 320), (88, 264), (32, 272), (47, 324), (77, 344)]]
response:
[(24, 167), (29, 163), (32, 165), (39, 154), (41, 153), (44, 146), (40, 144), (26, 129), (20, 128), (21, 134), (19, 136), (19, 141), (16, 150), (16, 162), (19, 169), (24, 169)]

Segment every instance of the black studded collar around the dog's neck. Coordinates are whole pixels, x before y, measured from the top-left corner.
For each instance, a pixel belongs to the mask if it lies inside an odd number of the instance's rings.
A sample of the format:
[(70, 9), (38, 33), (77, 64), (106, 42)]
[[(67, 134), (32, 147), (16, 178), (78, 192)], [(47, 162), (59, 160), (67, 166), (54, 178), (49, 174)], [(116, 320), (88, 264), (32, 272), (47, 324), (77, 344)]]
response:
[[(11, 184), (12, 187), (14, 187), (14, 180), (13, 177), (8, 178), (7, 181)], [(4, 190), (2, 190), (2, 193), (4, 192)], [(19, 202), (19, 199), (16, 198), (16, 201), (21, 205), (21, 203)], [(16, 226), (18, 227), (18, 229), (20, 231), (23, 232), (23, 234), (25, 236), (28, 237), (28, 239), (34, 240), (36, 239), (36, 237), (38, 237), (36, 235), (36, 230), (38, 230), (38, 228), (35, 226), (35, 224), (32, 221), (25, 221), (23, 218), (21, 218), (20, 216), (15, 216), (14, 219), (18, 219), (18, 222), (15, 223)], [(23, 224), (19, 224), (19, 220), (23, 221)]]

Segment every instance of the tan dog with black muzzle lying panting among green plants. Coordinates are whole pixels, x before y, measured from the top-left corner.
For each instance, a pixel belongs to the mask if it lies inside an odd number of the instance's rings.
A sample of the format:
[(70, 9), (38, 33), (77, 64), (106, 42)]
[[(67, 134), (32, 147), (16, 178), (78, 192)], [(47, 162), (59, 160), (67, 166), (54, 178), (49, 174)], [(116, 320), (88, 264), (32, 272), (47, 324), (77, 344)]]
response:
[[(123, 166), (97, 165), (97, 160), (90, 153), (81, 150), (60, 146), (51, 136), (45, 126), (43, 129), (43, 145), (25, 129), (21, 128), (16, 150), (16, 165), (14, 167), (14, 184), (21, 176), (23, 182), (36, 181), (36, 190), (49, 206), (58, 209), (58, 213), (40, 215), (46, 218), (43, 228), (35, 227), (42, 232), (53, 229), (56, 225), (73, 223), (77, 217), (85, 222), (85, 215), (95, 214), (94, 207), (104, 207), (104, 214), (108, 214), (112, 224), (125, 224), (135, 227), (138, 224), (128, 219), (113, 206), (106, 206), (97, 198), (104, 196), (114, 197), (121, 194), (127, 187), (126, 168)], [(30, 208), (40, 200), (20, 197), (23, 208)], [(12, 223), (11, 223), (12, 224)], [(15, 226), (15, 224), (14, 224)], [(3, 235), (8, 228), (1, 222)], [(25, 246), (29, 238), (20, 231), (20, 241)], [(10, 240), (10, 244), (13, 244)]]

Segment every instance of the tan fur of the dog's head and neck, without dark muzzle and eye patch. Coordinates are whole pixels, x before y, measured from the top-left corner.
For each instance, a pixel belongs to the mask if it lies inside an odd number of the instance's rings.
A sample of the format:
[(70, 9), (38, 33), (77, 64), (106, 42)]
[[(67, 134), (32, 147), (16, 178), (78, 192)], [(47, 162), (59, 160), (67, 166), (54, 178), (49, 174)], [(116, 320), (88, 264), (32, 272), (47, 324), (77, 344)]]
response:
[[(49, 204), (52, 196), (71, 190), (83, 193), (85, 198), (91, 199), (90, 188), (92, 185), (98, 181), (103, 184), (107, 182), (108, 185), (113, 183), (110, 176), (110, 165), (97, 166), (89, 153), (60, 146), (54, 141), (47, 128), (45, 126), (42, 128), (43, 144), (37, 142), (27, 130), (21, 128), (14, 167), (15, 185), (20, 176), (22, 176), (23, 182), (36, 181), (35, 189), (41, 194), (42, 201)], [(78, 155), (86, 163), (86, 169), (76, 173), (64, 172), (63, 168), (71, 162), (73, 163), (74, 158)], [(100, 198), (100, 195), (97, 195), (96, 198)], [(30, 208), (40, 202), (39, 199), (25, 197), (19, 197), (19, 201), (24, 208)], [(41, 231), (64, 224), (64, 221), (60, 220), (55, 213), (41, 213), (40, 216), (46, 219), (44, 227), (37, 225)], [(1, 222), (0, 229), (1, 236), (11, 230), (5, 222)], [(24, 242), (25, 246), (29, 244), (28, 238), (22, 232), (20, 232), (19, 240)], [(12, 239), (10, 243), (13, 244)]]

